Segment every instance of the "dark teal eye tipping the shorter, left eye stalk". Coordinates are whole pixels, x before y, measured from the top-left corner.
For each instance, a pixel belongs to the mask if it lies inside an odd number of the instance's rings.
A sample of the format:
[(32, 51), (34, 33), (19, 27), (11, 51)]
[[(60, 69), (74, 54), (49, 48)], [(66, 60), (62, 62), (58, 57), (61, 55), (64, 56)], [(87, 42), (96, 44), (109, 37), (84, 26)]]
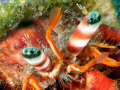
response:
[(37, 47), (27, 47), (23, 49), (22, 55), (24, 58), (33, 59), (41, 55), (41, 50)]

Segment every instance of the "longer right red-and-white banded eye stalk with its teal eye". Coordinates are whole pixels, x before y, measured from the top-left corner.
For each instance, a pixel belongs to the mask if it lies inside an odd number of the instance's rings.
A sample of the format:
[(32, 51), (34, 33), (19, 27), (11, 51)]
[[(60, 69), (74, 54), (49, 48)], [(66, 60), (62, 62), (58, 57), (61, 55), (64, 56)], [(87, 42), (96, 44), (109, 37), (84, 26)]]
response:
[(87, 45), (89, 40), (100, 25), (101, 15), (92, 11), (78, 25), (67, 43), (67, 49), (70, 53), (77, 56)]

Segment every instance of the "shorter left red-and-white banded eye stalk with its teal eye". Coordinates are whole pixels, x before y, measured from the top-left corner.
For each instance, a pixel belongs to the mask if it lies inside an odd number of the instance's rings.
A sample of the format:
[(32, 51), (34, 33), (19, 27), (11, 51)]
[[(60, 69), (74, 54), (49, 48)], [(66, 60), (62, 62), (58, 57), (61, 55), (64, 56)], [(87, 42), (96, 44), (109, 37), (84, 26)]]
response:
[(48, 71), (51, 68), (50, 59), (37, 47), (27, 47), (23, 49), (24, 59), (38, 71)]

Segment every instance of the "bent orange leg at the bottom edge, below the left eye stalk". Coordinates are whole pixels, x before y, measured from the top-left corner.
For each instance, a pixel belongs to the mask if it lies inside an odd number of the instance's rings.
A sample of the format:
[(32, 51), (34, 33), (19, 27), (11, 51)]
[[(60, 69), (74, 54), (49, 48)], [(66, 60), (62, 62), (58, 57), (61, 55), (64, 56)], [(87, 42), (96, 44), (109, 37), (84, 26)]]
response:
[(44, 90), (42, 87), (39, 86), (39, 82), (33, 75), (30, 75), (24, 80), (22, 90), (26, 90), (27, 84), (33, 87), (35, 90)]

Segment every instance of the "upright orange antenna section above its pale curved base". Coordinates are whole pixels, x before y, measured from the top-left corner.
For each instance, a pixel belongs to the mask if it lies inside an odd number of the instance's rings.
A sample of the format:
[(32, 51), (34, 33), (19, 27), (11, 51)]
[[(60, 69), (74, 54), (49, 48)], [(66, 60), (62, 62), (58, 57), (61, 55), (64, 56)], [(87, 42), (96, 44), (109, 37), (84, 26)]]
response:
[(60, 51), (58, 50), (58, 48), (56, 47), (56, 45), (52, 39), (51, 33), (52, 33), (52, 30), (55, 28), (55, 26), (60, 18), (60, 15), (61, 15), (60, 8), (54, 7), (50, 13), (49, 26), (46, 30), (46, 39), (58, 59), (62, 59), (62, 55), (61, 55)]

